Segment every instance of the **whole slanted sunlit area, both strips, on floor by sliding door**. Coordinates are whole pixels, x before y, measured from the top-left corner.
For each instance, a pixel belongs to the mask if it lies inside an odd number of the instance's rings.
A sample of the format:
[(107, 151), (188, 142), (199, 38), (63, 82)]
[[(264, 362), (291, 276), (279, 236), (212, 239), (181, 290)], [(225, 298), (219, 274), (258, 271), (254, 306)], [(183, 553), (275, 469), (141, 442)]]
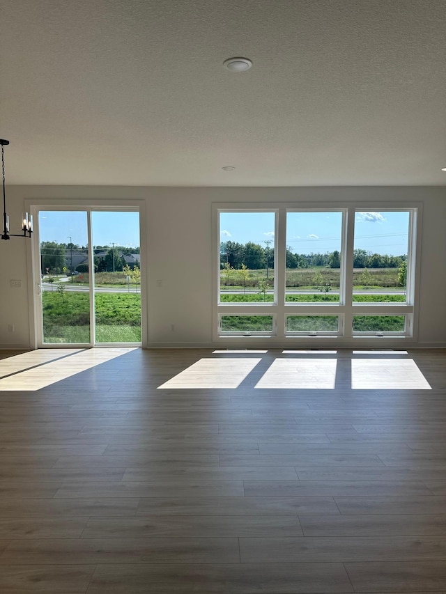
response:
[[(10, 357), (0, 361), (2, 370), (9, 370), (8, 375), (0, 380), (0, 391), (36, 391), (46, 386), (51, 386), (67, 377), (91, 369), (97, 365), (110, 361), (116, 357), (121, 357), (134, 350), (134, 347), (123, 348), (101, 348), (101, 349), (40, 349), (30, 353)], [(10, 364), (7, 364), (10, 361)], [(30, 366), (30, 369), (26, 369)], [(21, 371), (21, 369), (26, 369)], [(13, 370), (13, 371), (11, 371)], [(5, 374), (6, 375), (6, 374)]]

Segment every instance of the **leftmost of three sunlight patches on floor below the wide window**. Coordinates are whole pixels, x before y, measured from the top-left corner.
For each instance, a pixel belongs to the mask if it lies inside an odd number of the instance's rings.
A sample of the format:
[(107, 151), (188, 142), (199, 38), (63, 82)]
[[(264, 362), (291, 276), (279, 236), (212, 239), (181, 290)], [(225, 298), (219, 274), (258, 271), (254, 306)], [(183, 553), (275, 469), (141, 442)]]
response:
[(200, 359), (158, 389), (234, 389), (261, 359)]

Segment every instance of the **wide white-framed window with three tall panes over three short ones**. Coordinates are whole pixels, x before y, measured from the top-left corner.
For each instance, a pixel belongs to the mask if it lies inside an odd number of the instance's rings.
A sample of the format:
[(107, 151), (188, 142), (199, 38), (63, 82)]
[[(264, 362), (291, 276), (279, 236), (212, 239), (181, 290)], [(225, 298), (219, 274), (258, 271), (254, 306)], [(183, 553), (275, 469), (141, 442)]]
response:
[(419, 207), (215, 206), (215, 338), (414, 334)]

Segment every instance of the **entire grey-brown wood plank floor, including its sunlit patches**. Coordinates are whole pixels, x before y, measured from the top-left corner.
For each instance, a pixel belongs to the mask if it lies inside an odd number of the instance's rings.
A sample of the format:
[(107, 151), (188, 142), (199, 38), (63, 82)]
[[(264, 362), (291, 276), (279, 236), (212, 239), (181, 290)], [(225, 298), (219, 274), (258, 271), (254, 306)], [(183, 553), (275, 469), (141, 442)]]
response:
[(446, 593), (446, 352), (0, 352), (1, 594)]

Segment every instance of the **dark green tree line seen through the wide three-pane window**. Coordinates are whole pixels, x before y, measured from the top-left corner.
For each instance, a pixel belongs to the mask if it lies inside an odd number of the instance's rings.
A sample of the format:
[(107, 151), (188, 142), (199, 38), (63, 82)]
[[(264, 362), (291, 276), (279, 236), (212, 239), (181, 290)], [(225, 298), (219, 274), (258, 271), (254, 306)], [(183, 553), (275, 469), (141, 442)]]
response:
[[(353, 251), (354, 268), (399, 268), (407, 260), (406, 255), (390, 256), (383, 253), (372, 253), (364, 249)], [(263, 247), (254, 242), (240, 244), (238, 242), (222, 242), (220, 244), (220, 267), (230, 265), (241, 269), (242, 265), (250, 270), (274, 268), (274, 248)], [(334, 250), (325, 253), (293, 253), (286, 248), (287, 268), (340, 268), (341, 254)]]

